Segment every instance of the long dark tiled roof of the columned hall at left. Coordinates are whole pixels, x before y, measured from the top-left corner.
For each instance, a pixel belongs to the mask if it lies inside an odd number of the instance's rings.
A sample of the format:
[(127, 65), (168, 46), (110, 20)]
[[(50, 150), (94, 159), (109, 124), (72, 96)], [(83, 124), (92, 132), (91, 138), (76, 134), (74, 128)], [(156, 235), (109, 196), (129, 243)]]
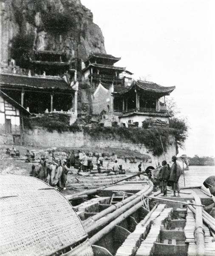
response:
[(37, 76), (20, 76), (14, 74), (0, 74), (0, 85), (10, 87), (29, 87), (47, 90), (69, 90), (69, 84), (60, 78), (42, 78)]

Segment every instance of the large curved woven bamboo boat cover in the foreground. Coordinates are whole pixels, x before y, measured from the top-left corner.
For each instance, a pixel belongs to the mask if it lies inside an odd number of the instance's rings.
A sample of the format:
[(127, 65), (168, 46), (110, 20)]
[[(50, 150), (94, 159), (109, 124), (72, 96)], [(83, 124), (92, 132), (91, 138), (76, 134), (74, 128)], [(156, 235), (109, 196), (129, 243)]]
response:
[(48, 256), (72, 244), (65, 255), (93, 256), (71, 204), (41, 180), (0, 175), (0, 209), (1, 256)]

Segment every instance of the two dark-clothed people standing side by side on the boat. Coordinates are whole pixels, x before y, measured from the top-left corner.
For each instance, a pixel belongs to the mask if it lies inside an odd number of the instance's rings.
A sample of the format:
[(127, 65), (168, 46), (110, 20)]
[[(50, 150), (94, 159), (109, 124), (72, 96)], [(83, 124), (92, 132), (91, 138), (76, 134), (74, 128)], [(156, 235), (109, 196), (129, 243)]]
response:
[(177, 157), (173, 156), (172, 161), (173, 165), (170, 167), (167, 165), (167, 161), (164, 160), (162, 162), (162, 168), (159, 172), (158, 178), (160, 180), (160, 188), (162, 196), (167, 197), (167, 186), (171, 185), (173, 189), (173, 195), (176, 197), (176, 192), (178, 192), (177, 197), (180, 197), (180, 187), (178, 184), (178, 180), (181, 176), (182, 170), (181, 166), (176, 162)]

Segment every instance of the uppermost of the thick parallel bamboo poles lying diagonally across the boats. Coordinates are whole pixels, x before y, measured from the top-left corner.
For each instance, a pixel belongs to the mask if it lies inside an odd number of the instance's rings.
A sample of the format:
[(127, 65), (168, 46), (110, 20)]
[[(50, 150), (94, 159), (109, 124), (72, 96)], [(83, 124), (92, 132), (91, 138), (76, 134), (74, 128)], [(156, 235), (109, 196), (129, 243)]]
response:
[[(145, 192), (147, 192), (148, 189), (149, 189), (149, 188), (146, 187), (145, 189), (139, 191), (138, 193), (145, 193)], [(117, 192), (117, 191), (116, 191), (116, 192)], [(137, 194), (138, 194), (138, 193), (137, 193)], [(123, 201), (121, 201), (121, 202), (119, 202), (119, 203), (116, 203), (116, 204), (114, 204), (114, 205), (111, 205), (111, 206), (108, 207), (107, 209), (105, 209), (105, 210), (103, 210), (103, 211), (97, 213), (96, 215), (93, 215), (91, 218), (92, 218), (94, 221), (97, 221), (98, 219), (104, 217), (104, 216), (107, 215), (108, 213), (113, 212), (113, 211), (115, 211), (116, 209), (119, 209), (119, 208), (122, 207), (123, 205), (125, 205), (125, 204), (127, 204), (128, 202), (130, 202), (130, 201), (132, 201), (133, 199), (135, 199), (135, 198), (136, 198), (135, 195), (136, 195), (136, 194), (134, 194), (133, 196), (130, 196), (130, 197), (124, 199)]]

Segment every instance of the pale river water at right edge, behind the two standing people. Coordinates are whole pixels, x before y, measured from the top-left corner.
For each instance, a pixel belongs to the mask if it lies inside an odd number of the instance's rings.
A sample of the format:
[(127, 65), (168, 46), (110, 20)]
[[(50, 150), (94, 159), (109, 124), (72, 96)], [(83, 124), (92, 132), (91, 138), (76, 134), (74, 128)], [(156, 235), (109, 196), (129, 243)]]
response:
[(189, 171), (184, 171), (184, 176), (179, 179), (180, 186), (200, 186), (207, 177), (215, 175), (215, 166), (189, 166)]

